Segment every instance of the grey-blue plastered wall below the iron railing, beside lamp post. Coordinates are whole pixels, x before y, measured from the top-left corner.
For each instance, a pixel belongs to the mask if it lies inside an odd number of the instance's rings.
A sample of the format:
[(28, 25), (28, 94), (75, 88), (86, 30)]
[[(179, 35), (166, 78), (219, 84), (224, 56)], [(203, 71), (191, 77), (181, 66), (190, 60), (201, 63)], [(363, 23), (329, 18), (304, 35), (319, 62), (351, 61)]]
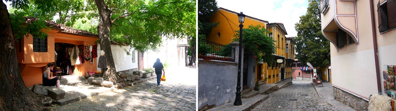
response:
[(198, 109), (205, 105), (219, 106), (234, 102), (238, 63), (202, 60), (198, 62)]

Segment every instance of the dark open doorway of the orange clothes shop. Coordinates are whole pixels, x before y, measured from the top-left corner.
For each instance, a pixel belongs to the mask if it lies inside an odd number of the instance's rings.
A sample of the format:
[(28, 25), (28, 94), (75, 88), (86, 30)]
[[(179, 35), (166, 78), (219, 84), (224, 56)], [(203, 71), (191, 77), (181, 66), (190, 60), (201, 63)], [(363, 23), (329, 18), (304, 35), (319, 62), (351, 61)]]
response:
[[(74, 65), (71, 65), (69, 52), (67, 50), (69, 48), (73, 48), (74, 44), (69, 43), (55, 43), (55, 52), (58, 54), (55, 57), (55, 66), (59, 67), (62, 71), (61, 73), (57, 73), (56, 76), (69, 76), (74, 72)], [(55, 70), (55, 67), (54, 67)]]

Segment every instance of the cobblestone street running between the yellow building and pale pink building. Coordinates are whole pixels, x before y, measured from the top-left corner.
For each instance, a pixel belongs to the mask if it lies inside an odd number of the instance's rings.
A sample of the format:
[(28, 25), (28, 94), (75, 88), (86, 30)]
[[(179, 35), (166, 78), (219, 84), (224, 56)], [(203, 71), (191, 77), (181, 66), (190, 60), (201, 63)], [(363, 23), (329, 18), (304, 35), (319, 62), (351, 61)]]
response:
[(354, 111), (346, 105), (328, 102), (324, 95), (319, 96), (310, 81), (293, 80), (293, 85), (269, 96), (252, 111)]

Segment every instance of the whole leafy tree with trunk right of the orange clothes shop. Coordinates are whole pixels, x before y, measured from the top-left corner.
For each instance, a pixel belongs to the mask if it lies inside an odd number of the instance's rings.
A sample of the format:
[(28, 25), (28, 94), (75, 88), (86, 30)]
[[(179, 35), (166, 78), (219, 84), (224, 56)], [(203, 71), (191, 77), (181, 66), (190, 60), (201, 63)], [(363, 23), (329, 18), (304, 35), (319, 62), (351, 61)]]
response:
[[(130, 44), (144, 53), (156, 49), (162, 37), (169, 39), (195, 36), (195, 0), (88, 0), (99, 14), (98, 34), (101, 50), (105, 51), (109, 68), (103, 78), (117, 87), (126, 86), (116, 75), (110, 38)], [(95, 4), (93, 4), (95, 3)], [(192, 30), (194, 29), (194, 30)], [(110, 35), (111, 33), (111, 35)], [(132, 44), (131, 44), (132, 43)], [(127, 50), (128, 51), (128, 50)]]

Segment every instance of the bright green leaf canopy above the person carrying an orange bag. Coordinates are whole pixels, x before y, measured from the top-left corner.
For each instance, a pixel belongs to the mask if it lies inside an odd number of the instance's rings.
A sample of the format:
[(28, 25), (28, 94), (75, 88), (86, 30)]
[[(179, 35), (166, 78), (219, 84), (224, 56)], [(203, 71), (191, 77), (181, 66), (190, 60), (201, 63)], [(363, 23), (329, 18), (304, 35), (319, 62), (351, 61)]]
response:
[[(166, 39), (196, 36), (195, 0), (137, 0), (108, 4), (112, 8), (111, 40), (135, 50), (156, 50)], [(110, 2), (108, 2), (110, 3)], [(116, 5), (119, 5), (116, 7)], [(128, 51), (127, 51), (128, 52)]]

